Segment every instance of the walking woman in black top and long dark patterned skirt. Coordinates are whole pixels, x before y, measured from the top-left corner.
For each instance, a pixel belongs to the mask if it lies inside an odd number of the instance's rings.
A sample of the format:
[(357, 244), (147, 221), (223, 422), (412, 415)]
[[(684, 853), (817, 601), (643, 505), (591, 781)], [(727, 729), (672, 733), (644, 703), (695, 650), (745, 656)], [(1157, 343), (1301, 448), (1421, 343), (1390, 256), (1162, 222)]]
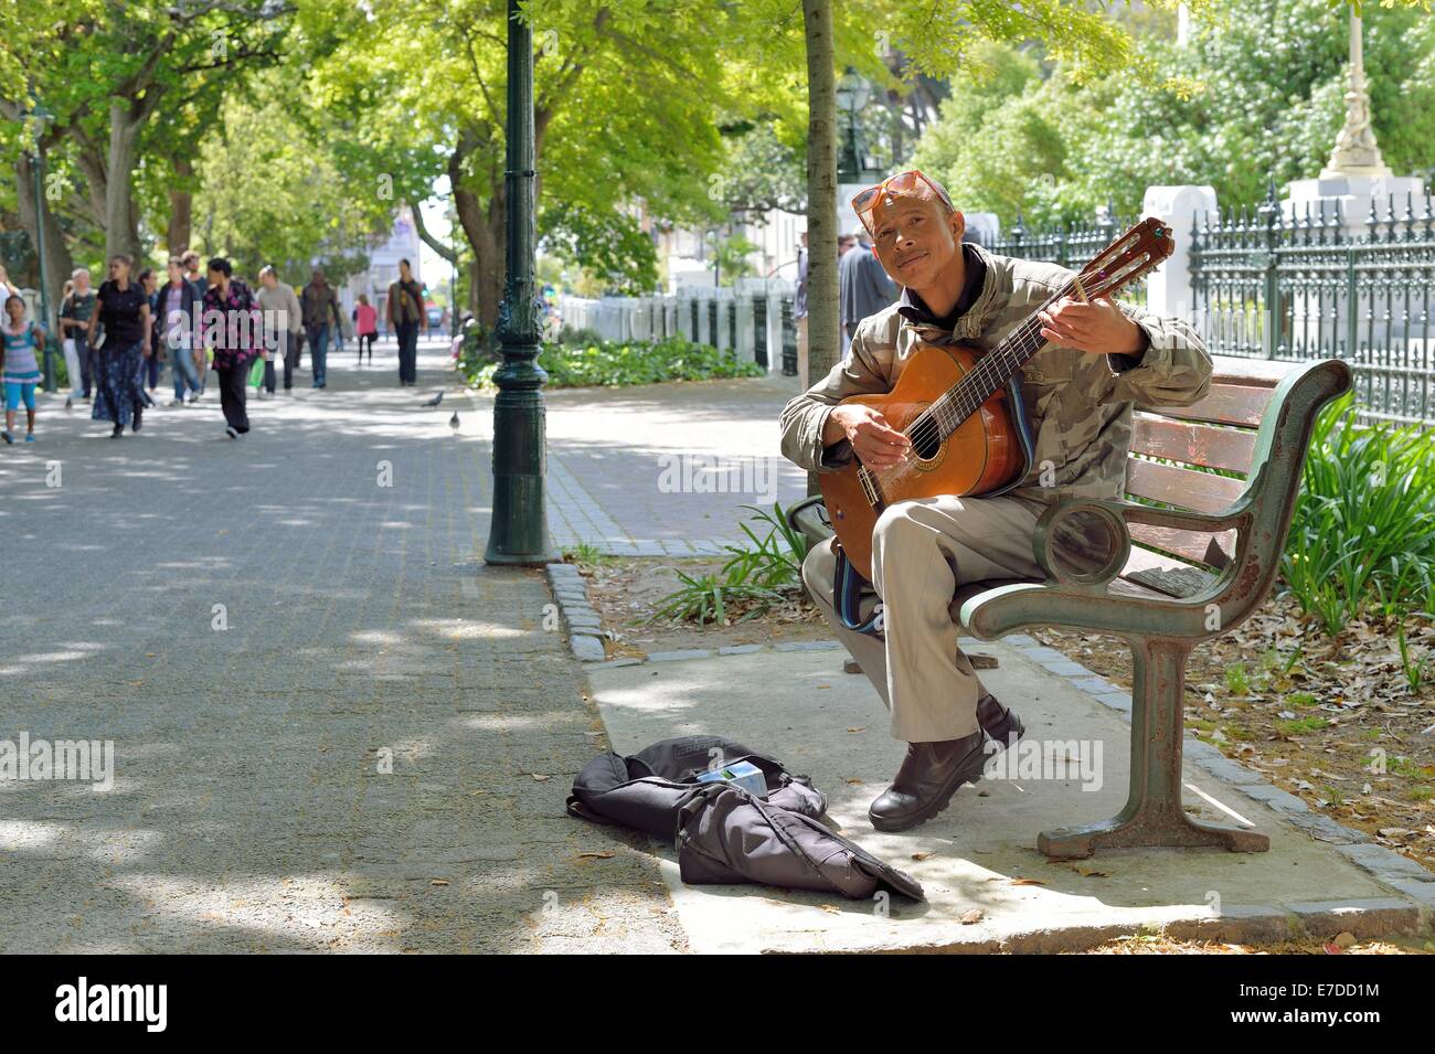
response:
[(109, 258), (109, 278), (95, 294), (95, 311), (89, 320), (89, 346), (95, 347), (95, 330), (105, 327), (105, 346), (99, 350), (96, 369), (99, 391), (95, 394), (95, 420), (115, 422), (110, 439), (118, 439), (129, 424), (139, 432), (145, 410), (145, 389), (139, 380), (141, 363), (154, 354), (149, 343), (149, 297), (139, 283), (129, 278), (129, 257)]

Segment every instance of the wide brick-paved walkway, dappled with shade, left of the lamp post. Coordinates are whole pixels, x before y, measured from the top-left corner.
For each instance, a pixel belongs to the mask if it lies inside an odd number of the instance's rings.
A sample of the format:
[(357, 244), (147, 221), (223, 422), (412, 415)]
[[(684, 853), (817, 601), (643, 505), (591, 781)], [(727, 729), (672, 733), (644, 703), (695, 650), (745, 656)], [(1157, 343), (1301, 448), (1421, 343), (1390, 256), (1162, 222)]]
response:
[(601, 723), (541, 572), (481, 562), (491, 422), (420, 407), (438, 346), (418, 389), (375, 360), (240, 442), (215, 396), (119, 440), (47, 399), (0, 447), (0, 760), (115, 751), (109, 790), (0, 779), (0, 951), (682, 948), (651, 859), (564, 815)]

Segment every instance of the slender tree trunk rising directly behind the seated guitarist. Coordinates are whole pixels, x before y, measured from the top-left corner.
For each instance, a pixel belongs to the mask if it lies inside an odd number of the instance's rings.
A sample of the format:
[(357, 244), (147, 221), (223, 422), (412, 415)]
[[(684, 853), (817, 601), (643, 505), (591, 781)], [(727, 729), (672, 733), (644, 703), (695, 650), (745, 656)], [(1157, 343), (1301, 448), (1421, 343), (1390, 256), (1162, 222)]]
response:
[[(831, 0), (802, 0), (808, 60), (808, 376), (841, 359), (837, 290), (837, 65)], [(818, 493), (808, 473), (808, 493)]]

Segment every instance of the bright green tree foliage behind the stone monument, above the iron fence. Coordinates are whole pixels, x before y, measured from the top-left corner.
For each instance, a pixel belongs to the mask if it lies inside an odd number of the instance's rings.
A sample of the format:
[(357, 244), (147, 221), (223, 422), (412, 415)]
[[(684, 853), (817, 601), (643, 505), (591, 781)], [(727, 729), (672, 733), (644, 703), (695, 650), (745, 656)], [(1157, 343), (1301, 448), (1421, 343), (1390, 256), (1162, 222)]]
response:
[[(1210, 184), (1251, 205), (1316, 175), (1345, 119), (1343, 4), (1253, 0), (1192, 9), (1191, 40), (1135, 40), (1128, 69), (1075, 83), (1048, 50), (1039, 63), (977, 44), (984, 77), (957, 77), (914, 161), (946, 178), (957, 206), (1010, 225), (1089, 219), (1112, 199), (1134, 214), (1148, 185)], [(1375, 130), (1396, 172), (1435, 163), (1435, 20), (1413, 4), (1365, 9)], [(1138, 76), (1141, 69), (1157, 76)]]

